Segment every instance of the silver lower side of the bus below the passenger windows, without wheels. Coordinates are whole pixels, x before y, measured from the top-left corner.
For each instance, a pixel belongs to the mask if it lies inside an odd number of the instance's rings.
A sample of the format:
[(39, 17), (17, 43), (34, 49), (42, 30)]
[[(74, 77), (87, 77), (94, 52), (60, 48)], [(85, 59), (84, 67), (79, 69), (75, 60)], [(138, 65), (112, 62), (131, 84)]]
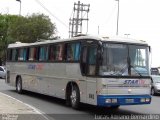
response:
[(81, 75), (79, 63), (12, 62), (7, 64), (10, 66), (8, 70), (10, 70), (12, 86), (15, 86), (16, 76), (20, 75), (24, 90), (65, 99), (67, 83), (72, 81), (80, 89), (80, 101), (88, 103), (86, 77)]

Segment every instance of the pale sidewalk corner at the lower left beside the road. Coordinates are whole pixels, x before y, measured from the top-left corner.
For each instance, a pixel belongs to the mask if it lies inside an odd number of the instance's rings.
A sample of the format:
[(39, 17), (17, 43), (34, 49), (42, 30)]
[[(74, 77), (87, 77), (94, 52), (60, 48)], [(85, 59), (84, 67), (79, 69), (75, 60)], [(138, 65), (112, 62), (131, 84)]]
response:
[(47, 120), (34, 107), (0, 92), (0, 120)]

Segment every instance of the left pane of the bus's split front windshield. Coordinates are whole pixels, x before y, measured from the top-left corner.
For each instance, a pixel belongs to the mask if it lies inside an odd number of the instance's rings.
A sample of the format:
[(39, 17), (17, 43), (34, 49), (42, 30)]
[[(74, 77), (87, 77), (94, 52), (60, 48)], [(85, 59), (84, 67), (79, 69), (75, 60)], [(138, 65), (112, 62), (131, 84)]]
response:
[(127, 46), (122, 44), (104, 44), (100, 75), (128, 74)]

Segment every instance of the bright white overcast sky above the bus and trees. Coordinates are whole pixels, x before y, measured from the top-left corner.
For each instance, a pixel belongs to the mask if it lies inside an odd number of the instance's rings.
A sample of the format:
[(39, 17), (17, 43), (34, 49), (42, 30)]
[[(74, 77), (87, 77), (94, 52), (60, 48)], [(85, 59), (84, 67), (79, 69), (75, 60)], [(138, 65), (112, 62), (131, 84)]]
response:
[[(118, 2), (116, 0), (79, 0), (90, 4), (88, 34), (115, 36)], [(47, 8), (47, 12), (39, 2)], [(56, 24), (61, 38), (69, 37), (69, 18), (78, 0), (21, 0), (21, 15), (44, 13)], [(119, 33), (121, 37), (145, 40), (152, 48), (152, 67), (160, 66), (160, 0), (119, 0)], [(20, 2), (0, 0), (1, 14), (19, 15)], [(86, 24), (83, 32), (86, 33)], [(99, 27), (99, 30), (98, 30)], [(99, 31), (99, 32), (98, 32)], [(125, 34), (130, 34), (126, 36)]]

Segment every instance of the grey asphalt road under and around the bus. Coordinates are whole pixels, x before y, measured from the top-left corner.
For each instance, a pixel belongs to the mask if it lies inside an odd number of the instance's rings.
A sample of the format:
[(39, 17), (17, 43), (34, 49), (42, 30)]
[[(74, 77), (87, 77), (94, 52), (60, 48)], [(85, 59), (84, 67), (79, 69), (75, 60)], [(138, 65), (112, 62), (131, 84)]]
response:
[[(130, 115), (138, 120), (142, 115), (160, 115), (160, 96), (153, 96), (150, 105), (134, 105), (121, 106), (118, 110), (110, 110), (107, 108), (99, 108), (83, 104), (80, 110), (74, 110), (65, 105), (65, 101), (50, 96), (36, 94), (25, 91), (24, 94), (17, 94), (14, 87), (5, 84), (3, 79), (0, 79), (0, 92), (12, 96), (20, 101), (23, 101), (41, 111), (49, 118), (56, 120), (95, 120), (95, 119), (127, 119)], [(120, 117), (120, 118), (119, 118)], [(144, 118), (144, 116), (142, 116)], [(160, 116), (154, 116), (160, 119)], [(142, 118), (141, 118), (142, 119)], [(150, 119), (150, 118), (149, 118)]]

